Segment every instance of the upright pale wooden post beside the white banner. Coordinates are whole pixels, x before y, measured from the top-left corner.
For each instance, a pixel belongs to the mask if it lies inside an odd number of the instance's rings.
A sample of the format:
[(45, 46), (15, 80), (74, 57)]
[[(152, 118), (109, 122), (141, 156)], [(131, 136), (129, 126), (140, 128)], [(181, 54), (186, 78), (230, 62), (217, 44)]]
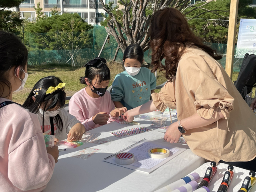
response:
[(226, 72), (232, 80), (233, 74), (233, 62), (234, 62), (234, 50), (236, 41), (236, 22), (238, 12), (239, 0), (231, 0), (230, 2), (230, 14), (228, 23), (228, 44), (227, 44), (227, 56), (226, 56)]

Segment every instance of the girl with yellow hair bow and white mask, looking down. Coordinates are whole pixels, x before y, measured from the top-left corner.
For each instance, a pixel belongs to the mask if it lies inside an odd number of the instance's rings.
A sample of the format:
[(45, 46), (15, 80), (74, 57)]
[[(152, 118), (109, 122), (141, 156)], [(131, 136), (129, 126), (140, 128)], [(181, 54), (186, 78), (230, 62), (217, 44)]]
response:
[[(23, 107), (37, 114), (42, 132), (59, 140), (81, 140), (85, 127), (64, 110), (65, 83), (55, 76), (40, 79), (30, 92)], [(68, 136), (67, 136), (68, 134)]]

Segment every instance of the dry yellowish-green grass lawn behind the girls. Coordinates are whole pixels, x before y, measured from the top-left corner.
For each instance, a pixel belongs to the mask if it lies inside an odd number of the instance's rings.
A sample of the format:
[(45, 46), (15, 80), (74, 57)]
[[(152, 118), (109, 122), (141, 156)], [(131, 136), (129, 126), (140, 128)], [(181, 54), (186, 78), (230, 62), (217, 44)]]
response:
[[(122, 64), (114, 63), (108, 64), (111, 72), (111, 79), (110, 85), (116, 76), (116, 74), (123, 71)], [(13, 101), (23, 104), (28, 94), (34, 87), (34, 84), (38, 80), (46, 76), (56, 76), (59, 77), (63, 82), (66, 83), (66, 96), (72, 96), (75, 92), (79, 91), (80, 89), (84, 88), (84, 84), (80, 84), (79, 77), (84, 76), (84, 67), (71, 67), (70, 65), (58, 65), (58, 64), (50, 64), (44, 66), (28, 66), (28, 80), (26, 81), (25, 87), (20, 92), (13, 93)], [(233, 81), (235, 81), (238, 77), (238, 73), (233, 74)], [(166, 81), (166, 78), (162, 72), (158, 72), (156, 84), (160, 85)], [(159, 92), (160, 90), (156, 90)]]

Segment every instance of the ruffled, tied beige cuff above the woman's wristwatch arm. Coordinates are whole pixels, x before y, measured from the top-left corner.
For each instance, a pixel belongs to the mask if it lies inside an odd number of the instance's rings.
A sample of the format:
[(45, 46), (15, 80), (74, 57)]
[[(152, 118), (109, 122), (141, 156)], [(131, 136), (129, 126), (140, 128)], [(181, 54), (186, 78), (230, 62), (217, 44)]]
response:
[(218, 118), (218, 113), (222, 112), (225, 119), (229, 118), (229, 113), (234, 109), (232, 104), (220, 100), (201, 100), (194, 102), (197, 114), (204, 118)]

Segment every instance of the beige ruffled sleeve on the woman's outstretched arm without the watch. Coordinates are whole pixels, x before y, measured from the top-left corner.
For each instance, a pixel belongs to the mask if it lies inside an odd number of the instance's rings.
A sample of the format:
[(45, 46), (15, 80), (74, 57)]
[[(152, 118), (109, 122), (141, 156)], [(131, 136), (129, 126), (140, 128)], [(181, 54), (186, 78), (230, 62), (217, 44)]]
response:
[(172, 82), (167, 82), (159, 93), (153, 93), (152, 100), (158, 110), (164, 112), (167, 107), (176, 109), (174, 87)]

